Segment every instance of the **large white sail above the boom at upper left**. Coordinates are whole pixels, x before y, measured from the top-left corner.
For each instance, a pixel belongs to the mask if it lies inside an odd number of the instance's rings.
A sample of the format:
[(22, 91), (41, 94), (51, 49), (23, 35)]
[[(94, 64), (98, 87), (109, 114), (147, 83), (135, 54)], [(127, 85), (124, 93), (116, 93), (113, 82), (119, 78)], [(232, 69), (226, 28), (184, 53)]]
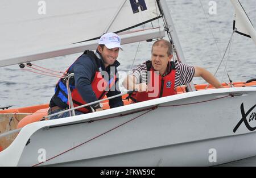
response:
[(155, 0), (1, 0), (0, 15), (1, 67), (9, 60), (16, 64), (33, 56), (56, 56), (56, 52), (43, 55), (55, 49), (61, 55), (61, 49), (98, 39), (105, 32), (121, 32), (157, 19), (160, 11)]

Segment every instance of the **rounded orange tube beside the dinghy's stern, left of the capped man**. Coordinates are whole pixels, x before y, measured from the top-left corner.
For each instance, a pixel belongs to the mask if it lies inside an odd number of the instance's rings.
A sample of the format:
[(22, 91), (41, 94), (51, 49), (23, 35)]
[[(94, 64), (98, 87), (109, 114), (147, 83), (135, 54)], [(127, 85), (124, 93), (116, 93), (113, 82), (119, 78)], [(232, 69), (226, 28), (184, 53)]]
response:
[(44, 116), (47, 115), (47, 111), (48, 111), (48, 108), (40, 109), (36, 111), (34, 114), (27, 115), (21, 121), (19, 121), (17, 129), (28, 125), (28, 123), (40, 121)]

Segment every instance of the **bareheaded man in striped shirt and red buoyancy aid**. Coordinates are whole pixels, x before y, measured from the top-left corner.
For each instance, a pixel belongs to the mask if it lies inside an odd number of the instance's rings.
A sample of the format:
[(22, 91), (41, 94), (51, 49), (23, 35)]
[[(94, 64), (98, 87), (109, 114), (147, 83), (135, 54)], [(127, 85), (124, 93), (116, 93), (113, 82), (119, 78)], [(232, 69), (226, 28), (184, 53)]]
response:
[(138, 92), (130, 96), (141, 102), (176, 94), (176, 87), (188, 84), (193, 77), (202, 77), (215, 88), (223, 88), (217, 78), (200, 67), (171, 61), (172, 45), (167, 40), (158, 40), (152, 45), (151, 61), (137, 65), (123, 81), (123, 86)]

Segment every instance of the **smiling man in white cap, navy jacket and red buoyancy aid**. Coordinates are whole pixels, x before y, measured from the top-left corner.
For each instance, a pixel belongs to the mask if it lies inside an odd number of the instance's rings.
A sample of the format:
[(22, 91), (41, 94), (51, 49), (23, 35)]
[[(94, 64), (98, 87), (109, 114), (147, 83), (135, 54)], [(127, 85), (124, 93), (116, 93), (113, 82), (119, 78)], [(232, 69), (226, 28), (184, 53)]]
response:
[[(74, 78), (69, 80), (69, 88), (73, 105), (81, 106), (90, 102), (101, 100), (106, 96), (120, 94), (118, 88), (117, 61), (121, 39), (117, 34), (107, 33), (101, 36), (96, 52), (86, 50), (67, 69), (67, 73), (74, 73)], [(109, 100), (110, 108), (123, 106), (122, 97)], [(55, 94), (50, 103), (48, 114), (58, 113), (69, 108), (68, 92), (65, 79), (57, 82)], [(76, 115), (102, 110), (100, 103), (82, 107), (75, 110)], [(49, 119), (69, 117), (69, 112), (55, 115)]]

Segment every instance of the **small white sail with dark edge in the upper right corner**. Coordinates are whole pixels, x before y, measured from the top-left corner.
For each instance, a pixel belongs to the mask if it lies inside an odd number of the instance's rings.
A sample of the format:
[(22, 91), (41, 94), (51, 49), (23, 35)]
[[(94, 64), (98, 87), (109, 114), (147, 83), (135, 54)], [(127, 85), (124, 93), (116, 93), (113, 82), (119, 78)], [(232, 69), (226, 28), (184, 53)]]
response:
[(251, 23), (249, 17), (247, 16), (245, 10), (243, 9), (240, 1), (231, 0), (235, 8), (235, 20), (233, 23), (233, 30), (236, 29), (236, 32), (240, 35), (247, 36), (252, 38), (256, 44), (256, 32)]

